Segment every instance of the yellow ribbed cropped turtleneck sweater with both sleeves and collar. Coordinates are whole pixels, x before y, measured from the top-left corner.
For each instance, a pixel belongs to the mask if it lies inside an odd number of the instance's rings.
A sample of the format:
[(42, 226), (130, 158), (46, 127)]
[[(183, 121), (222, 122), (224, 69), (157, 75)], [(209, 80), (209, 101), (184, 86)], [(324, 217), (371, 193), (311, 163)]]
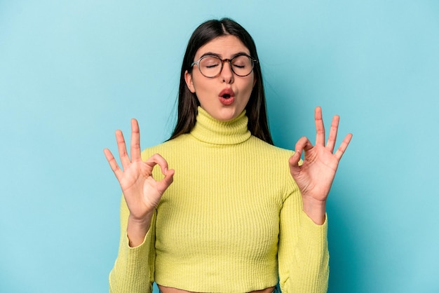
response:
[[(198, 108), (194, 130), (142, 152), (175, 169), (144, 243), (121, 242), (110, 292), (151, 292), (152, 282), (192, 292), (326, 292), (327, 225), (302, 211), (290, 175), (292, 151), (250, 135), (245, 111), (220, 122)], [(154, 176), (160, 178), (158, 168)]]

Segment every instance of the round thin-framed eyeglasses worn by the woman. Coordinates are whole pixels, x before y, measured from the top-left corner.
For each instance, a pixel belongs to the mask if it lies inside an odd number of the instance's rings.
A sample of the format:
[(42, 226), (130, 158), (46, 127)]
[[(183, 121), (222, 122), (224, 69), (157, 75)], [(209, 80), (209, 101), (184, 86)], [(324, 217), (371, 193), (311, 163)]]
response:
[(206, 55), (193, 62), (191, 67), (196, 65), (203, 76), (212, 78), (221, 73), (224, 62), (229, 62), (231, 71), (237, 76), (248, 76), (248, 74), (252, 73), (257, 60), (245, 54), (236, 55), (231, 59), (221, 59), (215, 55)]

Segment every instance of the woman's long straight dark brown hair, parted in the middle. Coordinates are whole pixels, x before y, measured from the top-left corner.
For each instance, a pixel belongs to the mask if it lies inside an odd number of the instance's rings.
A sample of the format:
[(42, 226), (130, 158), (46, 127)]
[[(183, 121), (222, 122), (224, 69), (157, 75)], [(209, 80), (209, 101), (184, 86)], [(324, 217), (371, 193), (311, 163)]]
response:
[[(192, 72), (193, 67), (191, 67), (191, 64), (194, 62), (196, 51), (201, 46), (212, 41), (212, 39), (224, 35), (238, 37), (250, 51), (250, 56), (258, 60), (255, 41), (253, 41), (252, 36), (234, 20), (222, 18), (221, 20), (208, 20), (199, 25), (189, 39), (186, 53), (184, 53), (178, 93), (177, 124), (170, 139), (191, 132), (196, 123), (199, 102), (195, 93), (191, 93), (189, 88), (187, 88), (186, 81), (184, 81), (184, 73), (186, 71), (189, 73)], [(266, 117), (264, 84), (259, 62), (255, 62), (253, 71), (256, 83), (250, 95), (250, 100), (245, 107), (246, 115), (248, 116), (248, 130), (250, 130), (255, 137), (259, 137), (259, 139), (273, 144)]]

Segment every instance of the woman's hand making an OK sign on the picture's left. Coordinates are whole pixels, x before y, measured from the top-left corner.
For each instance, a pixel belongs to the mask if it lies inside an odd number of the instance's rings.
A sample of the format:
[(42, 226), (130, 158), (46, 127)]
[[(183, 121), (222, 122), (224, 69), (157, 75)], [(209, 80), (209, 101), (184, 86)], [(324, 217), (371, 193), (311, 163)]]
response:
[[(131, 160), (127, 154), (121, 130), (116, 130), (116, 142), (123, 170), (119, 168), (109, 149), (104, 149), (105, 157), (121, 184), (123, 196), (130, 211), (130, 221), (147, 224), (146, 228), (149, 229), (152, 212), (168, 186), (173, 183), (174, 170), (168, 170), (168, 162), (159, 154), (151, 156), (145, 162), (142, 161), (140, 130), (135, 119), (131, 120)], [(161, 172), (165, 175), (159, 181), (152, 177), (155, 165), (159, 165)]]

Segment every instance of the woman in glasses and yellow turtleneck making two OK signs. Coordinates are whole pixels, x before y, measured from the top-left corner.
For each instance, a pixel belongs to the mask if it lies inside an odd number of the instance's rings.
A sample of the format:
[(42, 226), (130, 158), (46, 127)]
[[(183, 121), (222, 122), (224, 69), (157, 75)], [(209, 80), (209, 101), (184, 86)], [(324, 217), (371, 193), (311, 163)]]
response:
[(325, 292), (325, 203), (351, 134), (332, 154), (339, 118), (325, 145), (319, 107), (315, 117), (315, 146), (274, 147), (250, 34), (227, 18), (200, 25), (172, 137), (141, 153), (133, 119), (131, 158), (116, 131), (123, 170), (104, 150), (123, 191), (110, 291)]

